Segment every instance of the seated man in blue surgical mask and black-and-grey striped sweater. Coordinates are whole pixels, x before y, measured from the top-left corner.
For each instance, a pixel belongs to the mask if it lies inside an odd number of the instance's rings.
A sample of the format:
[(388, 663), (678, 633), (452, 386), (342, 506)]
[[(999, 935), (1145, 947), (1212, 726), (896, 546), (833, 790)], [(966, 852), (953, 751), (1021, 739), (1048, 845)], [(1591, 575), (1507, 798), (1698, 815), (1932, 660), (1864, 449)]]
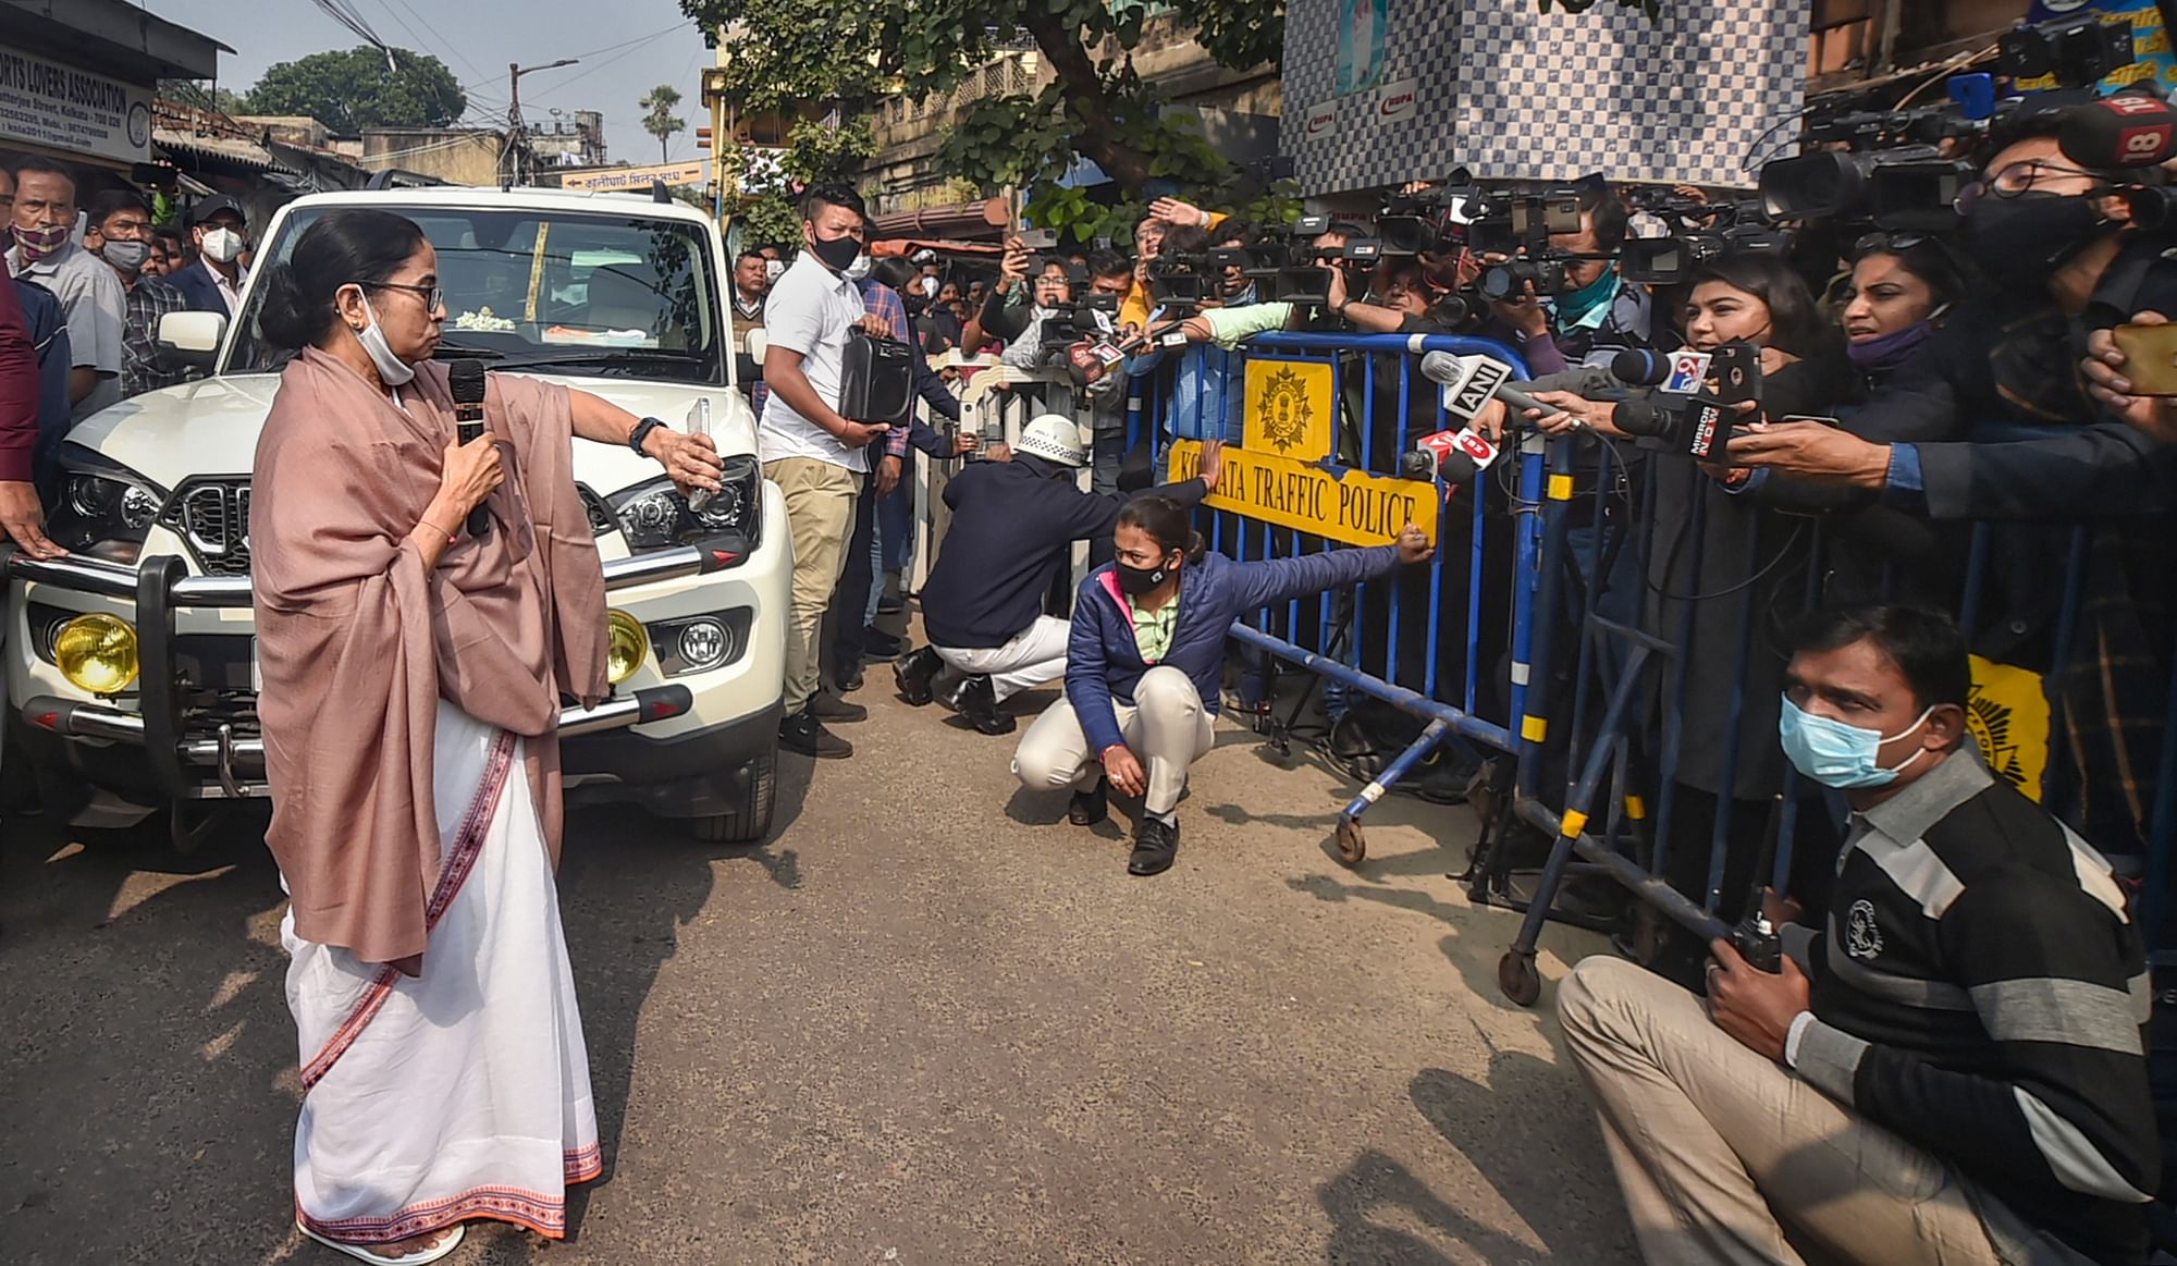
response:
[(1641, 1255), (2147, 1262), (2147, 966), (2110, 864), (1981, 764), (1948, 618), (1824, 611), (1787, 648), (1783, 750), (1853, 807), (1829, 931), (1785, 924), (1779, 972), (1713, 942), (1707, 1005), (1611, 957), (1557, 992)]

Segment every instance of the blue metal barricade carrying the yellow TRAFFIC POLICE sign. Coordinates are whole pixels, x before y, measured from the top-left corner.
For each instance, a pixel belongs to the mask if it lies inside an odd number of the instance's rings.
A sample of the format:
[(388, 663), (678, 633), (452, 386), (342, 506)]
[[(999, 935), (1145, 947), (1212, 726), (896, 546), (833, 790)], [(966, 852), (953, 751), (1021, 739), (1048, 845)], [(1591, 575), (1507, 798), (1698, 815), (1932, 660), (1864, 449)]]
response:
[[(1132, 365), (1143, 376), (1130, 398), (1130, 450), (1147, 448), (1158, 474), (1191, 474), (1202, 439), (1230, 444), (1206, 502), (1210, 548), (1245, 561), (1389, 544), (1409, 520), (1439, 546), (1426, 568), (1267, 607), (1232, 626), (1239, 644), (1419, 727), (1341, 811), (1337, 851), (1348, 864), (1367, 851), (1361, 816), (1417, 768), (1465, 757), (1467, 744), (1511, 755), (1524, 742), (1513, 718), (1526, 696), (1535, 592), (1522, 579), (1535, 574), (1539, 550), (1530, 511), (1543, 487), (1541, 446), (1506, 452), (1450, 498), (1435, 481), (1400, 476), (1400, 455), (1422, 435), (1459, 429), (1419, 374), (1424, 352), (1485, 355), (1526, 374), (1511, 348), (1452, 335), (1265, 333), (1237, 352), (1169, 348), (1160, 363)], [(1250, 694), (1243, 683), (1243, 705), (1267, 722), (1267, 698)]]

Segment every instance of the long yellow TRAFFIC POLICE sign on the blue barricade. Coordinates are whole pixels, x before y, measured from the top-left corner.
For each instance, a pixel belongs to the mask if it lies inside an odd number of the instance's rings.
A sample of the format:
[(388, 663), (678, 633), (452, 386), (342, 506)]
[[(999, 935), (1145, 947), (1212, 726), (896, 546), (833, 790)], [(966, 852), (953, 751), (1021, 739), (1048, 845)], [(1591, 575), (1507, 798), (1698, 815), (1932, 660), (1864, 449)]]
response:
[[(1202, 444), (1173, 439), (1169, 470), (1171, 481), (1200, 474)], [(1435, 544), (1439, 496), (1435, 483), (1226, 448), (1223, 476), (1204, 505), (1350, 546), (1387, 546), (1409, 522)]]

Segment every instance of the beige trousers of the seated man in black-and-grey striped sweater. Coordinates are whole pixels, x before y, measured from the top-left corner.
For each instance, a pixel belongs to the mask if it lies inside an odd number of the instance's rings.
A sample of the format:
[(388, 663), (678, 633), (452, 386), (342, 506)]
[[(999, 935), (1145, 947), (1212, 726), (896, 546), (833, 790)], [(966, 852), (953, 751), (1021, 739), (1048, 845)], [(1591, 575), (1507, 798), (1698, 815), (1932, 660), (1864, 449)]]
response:
[(1678, 985), (1589, 957), (1557, 1018), (1652, 1266), (1998, 1262), (1940, 1159), (1755, 1055)]

